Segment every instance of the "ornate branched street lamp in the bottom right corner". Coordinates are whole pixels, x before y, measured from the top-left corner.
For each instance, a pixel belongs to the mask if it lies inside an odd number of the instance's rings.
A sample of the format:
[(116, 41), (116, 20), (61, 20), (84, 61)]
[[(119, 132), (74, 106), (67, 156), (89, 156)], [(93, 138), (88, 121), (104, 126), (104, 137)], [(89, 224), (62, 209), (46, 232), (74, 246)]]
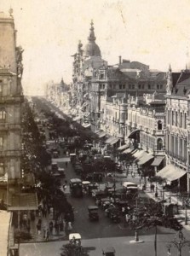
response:
[(173, 241), (167, 245), (168, 247), (168, 255), (170, 255), (170, 247), (176, 247), (178, 256), (181, 256), (181, 249), (182, 247), (190, 247), (190, 241), (187, 241), (186, 238), (183, 236), (183, 233), (179, 231)]

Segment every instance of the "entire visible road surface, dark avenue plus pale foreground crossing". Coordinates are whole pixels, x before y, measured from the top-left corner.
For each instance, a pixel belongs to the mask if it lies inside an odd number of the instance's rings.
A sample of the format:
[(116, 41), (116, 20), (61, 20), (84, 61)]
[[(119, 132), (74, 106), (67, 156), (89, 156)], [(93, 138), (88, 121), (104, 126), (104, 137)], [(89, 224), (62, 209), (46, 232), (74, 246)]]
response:
[[(54, 110), (57, 110), (54, 108)], [(47, 137), (48, 133), (47, 133)], [(60, 149), (60, 148), (59, 148)], [(66, 155), (63, 155), (60, 149), (60, 159), (57, 161), (58, 166), (65, 168), (66, 178), (62, 179), (64, 183), (72, 177), (78, 177), (73, 171), (72, 164), (65, 164)], [(61, 160), (62, 159), (62, 160)], [(138, 183), (140, 185), (140, 177), (135, 173), (135, 177), (118, 177), (116, 178), (117, 185), (121, 185), (125, 180)], [(147, 190), (148, 194), (149, 190)], [(140, 196), (147, 196), (146, 193), (141, 191)], [(119, 224), (113, 224), (109, 218), (104, 215), (104, 212), (99, 208), (100, 220), (99, 222), (90, 222), (88, 218), (87, 207), (94, 205), (95, 201), (89, 195), (83, 195), (83, 198), (74, 198), (70, 195), (69, 186), (66, 188), (66, 196), (68, 201), (72, 203), (75, 213), (75, 221), (73, 223), (73, 232), (78, 232), (82, 236), (83, 247), (88, 251), (90, 256), (101, 255), (101, 249), (104, 247), (113, 246), (116, 249), (116, 255), (154, 255), (154, 230), (140, 230), (140, 239), (144, 242), (141, 244), (131, 244), (130, 241), (134, 240), (135, 231), (130, 230), (128, 226), (124, 226), (122, 221)], [(184, 235), (189, 239), (187, 230), (184, 230)], [(158, 256), (167, 255), (166, 244), (172, 241), (176, 236), (174, 230), (165, 228), (158, 228)], [(68, 237), (63, 237), (63, 241), (46, 241), (29, 244), (20, 244), (20, 256), (38, 256), (38, 255), (60, 255), (60, 247), (66, 244)], [(176, 253), (171, 249), (171, 253)], [(171, 254), (172, 255), (172, 254)], [(175, 254), (174, 254), (175, 255)], [(187, 255), (187, 248), (184, 251)]]

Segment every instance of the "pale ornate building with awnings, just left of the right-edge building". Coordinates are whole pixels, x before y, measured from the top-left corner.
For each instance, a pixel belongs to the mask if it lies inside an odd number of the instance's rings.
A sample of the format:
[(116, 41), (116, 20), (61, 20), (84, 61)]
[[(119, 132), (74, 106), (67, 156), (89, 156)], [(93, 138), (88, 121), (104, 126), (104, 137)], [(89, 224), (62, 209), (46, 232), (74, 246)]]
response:
[(134, 154), (139, 164), (152, 160), (155, 172), (164, 165), (164, 107), (163, 94), (128, 97), (126, 137), (130, 138), (132, 148), (139, 149)]

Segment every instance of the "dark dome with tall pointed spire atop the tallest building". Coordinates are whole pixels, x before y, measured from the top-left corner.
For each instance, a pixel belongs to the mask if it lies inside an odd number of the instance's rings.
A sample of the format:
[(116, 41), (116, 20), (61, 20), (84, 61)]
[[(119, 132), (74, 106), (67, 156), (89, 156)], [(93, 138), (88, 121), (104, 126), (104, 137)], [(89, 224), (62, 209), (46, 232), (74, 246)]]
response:
[(84, 56), (101, 56), (101, 49), (97, 44), (95, 44), (95, 32), (93, 22), (91, 22), (91, 27), (89, 30), (89, 43), (84, 48)]

